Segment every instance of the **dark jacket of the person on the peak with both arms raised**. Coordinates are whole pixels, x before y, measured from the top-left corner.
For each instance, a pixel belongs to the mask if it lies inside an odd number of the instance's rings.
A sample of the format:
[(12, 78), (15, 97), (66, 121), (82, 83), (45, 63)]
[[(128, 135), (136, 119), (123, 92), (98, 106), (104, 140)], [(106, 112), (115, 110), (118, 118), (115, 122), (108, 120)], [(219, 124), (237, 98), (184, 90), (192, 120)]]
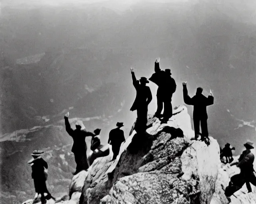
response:
[(206, 98), (203, 94), (196, 94), (193, 98), (190, 98), (190, 96), (188, 96), (187, 86), (183, 85), (183, 98), (186, 104), (194, 106), (193, 118), (208, 118), (206, 106), (213, 104), (213, 96), (208, 96), (208, 98)]

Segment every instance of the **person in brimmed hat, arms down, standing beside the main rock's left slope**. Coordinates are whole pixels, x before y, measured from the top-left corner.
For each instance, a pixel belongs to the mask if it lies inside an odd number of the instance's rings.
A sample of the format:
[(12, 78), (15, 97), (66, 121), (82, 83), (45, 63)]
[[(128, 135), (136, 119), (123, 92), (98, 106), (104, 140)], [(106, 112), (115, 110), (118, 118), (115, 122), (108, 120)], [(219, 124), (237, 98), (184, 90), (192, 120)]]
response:
[(123, 123), (117, 122), (116, 126), (117, 128), (110, 130), (108, 138), (108, 143), (112, 145), (112, 160), (116, 159), (119, 154), (121, 144), (125, 142), (124, 131), (120, 129), (124, 126)]

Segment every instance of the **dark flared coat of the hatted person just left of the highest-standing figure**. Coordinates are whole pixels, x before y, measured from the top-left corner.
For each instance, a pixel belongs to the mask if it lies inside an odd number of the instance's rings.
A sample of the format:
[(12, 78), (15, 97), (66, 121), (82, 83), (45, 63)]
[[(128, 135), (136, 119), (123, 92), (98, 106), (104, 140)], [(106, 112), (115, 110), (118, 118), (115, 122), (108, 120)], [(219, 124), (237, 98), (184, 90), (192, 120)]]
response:
[(148, 104), (152, 100), (152, 94), (148, 86), (141, 85), (136, 80), (135, 74), (132, 72), (132, 83), (136, 89), (136, 98), (131, 107), (131, 111), (137, 110), (138, 108), (148, 107)]

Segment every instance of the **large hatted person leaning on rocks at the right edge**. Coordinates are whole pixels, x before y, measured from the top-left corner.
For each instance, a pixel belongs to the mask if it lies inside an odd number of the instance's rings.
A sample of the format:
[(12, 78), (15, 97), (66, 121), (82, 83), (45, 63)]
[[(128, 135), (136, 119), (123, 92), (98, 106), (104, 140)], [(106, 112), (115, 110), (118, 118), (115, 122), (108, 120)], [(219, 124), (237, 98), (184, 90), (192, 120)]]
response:
[(225, 189), (225, 195), (231, 196), (234, 192), (238, 191), (244, 183), (246, 183), (246, 187), (248, 189), (248, 193), (252, 192), (252, 188), (250, 183), (256, 186), (256, 177), (254, 175), (253, 162), (254, 162), (254, 154), (251, 152), (251, 149), (254, 149), (252, 146), (253, 143), (251, 141), (247, 141), (244, 144), (246, 148), (245, 151), (240, 155), (238, 162), (232, 163), (230, 166), (236, 165), (241, 169), (240, 174), (234, 175), (230, 178), (230, 182)]

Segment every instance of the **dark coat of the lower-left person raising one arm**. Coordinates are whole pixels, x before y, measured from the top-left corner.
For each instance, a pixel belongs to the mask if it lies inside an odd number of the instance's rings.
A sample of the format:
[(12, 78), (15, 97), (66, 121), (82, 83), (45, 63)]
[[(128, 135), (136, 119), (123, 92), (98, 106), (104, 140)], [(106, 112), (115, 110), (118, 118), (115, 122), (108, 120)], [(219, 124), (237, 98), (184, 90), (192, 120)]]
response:
[(87, 146), (86, 146), (86, 142), (85, 142), (85, 137), (94, 136), (95, 134), (92, 132), (88, 132), (86, 130), (81, 130), (81, 129), (74, 130), (70, 127), (68, 118), (64, 116), (64, 119), (65, 119), (66, 131), (74, 140), (73, 147), (72, 147), (71, 151), (73, 153), (86, 153)]

